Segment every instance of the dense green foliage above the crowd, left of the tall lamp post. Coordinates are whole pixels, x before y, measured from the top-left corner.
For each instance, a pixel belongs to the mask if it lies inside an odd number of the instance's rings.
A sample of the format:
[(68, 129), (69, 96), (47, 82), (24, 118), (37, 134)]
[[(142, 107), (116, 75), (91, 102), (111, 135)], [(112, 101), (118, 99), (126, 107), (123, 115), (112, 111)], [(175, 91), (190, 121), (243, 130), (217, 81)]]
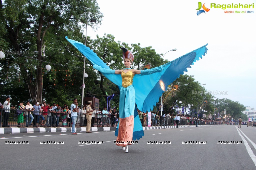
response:
[[(66, 103), (81, 93), (83, 57), (65, 36), (82, 42), (86, 23), (98, 28), (103, 14), (95, 0), (5, 0), (0, 15), (0, 48), (6, 54), (0, 64), (2, 96), (13, 96), (15, 103), (43, 98)], [(50, 71), (44, 69), (48, 63)], [(86, 71), (95, 75), (89, 67)], [(12, 77), (5, 79), (8, 74)]]

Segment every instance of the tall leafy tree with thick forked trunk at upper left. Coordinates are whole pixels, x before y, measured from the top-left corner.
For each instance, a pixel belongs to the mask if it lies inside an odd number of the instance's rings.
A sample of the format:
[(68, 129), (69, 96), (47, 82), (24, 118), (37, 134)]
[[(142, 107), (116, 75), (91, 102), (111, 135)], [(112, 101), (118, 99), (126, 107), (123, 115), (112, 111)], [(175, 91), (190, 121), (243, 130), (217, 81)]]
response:
[[(43, 87), (43, 63), (56, 58), (61, 62), (77, 61), (68, 53), (71, 51), (67, 51), (69, 44), (65, 42), (64, 35), (83, 40), (82, 30), (88, 20), (97, 18), (95, 25), (88, 22), (88, 25), (97, 28), (103, 17), (96, 0), (6, 0), (4, 3), (1, 1), (0, 11), (1, 25), (4, 25), (4, 30), (0, 29), (0, 38), (4, 40), (1, 44), (4, 44), (4, 50), (18, 52), (7, 55), (6, 59), (13, 62), (13, 67), (18, 67), (34, 102), (42, 102), (47, 91)], [(7, 34), (2, 34), (4, 32)], [(45, 51), (46, 58), (42, 55), (43, 46), (51, 47)], [(25, 55), (22, 51), (26, 52)], [(36, 53), (31, 55), (33, 51)], [(77, 51), (74, 53), (78, 56)]]

